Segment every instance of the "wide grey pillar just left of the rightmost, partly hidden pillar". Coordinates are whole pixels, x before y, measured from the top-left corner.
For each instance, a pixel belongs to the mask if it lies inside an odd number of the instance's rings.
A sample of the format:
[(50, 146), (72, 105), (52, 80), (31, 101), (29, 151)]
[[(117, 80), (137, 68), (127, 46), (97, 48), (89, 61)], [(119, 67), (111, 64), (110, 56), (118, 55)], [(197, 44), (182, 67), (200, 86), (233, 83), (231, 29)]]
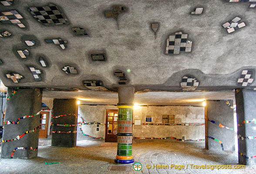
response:
[[(226, 104), (226, 102), (229, 104)], [(235, 151), (233, 100), (207, 100), (205, 106), (205, 148), (209, 150)], [(206, 136), (205, 136), (206, 138)], [(206, 144), (208, 143), (208, 144)]]

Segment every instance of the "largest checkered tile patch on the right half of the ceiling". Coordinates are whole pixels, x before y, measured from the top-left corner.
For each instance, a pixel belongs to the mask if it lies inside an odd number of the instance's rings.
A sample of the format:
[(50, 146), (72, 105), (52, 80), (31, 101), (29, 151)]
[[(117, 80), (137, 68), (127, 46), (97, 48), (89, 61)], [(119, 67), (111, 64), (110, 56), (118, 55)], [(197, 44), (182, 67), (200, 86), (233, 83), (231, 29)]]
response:
[(192, 41), (188, 40), (188, 34), (178, 32), (167, 39), (165, 54), (179, 54), (180, 51), (191, 52), (191, 48)]

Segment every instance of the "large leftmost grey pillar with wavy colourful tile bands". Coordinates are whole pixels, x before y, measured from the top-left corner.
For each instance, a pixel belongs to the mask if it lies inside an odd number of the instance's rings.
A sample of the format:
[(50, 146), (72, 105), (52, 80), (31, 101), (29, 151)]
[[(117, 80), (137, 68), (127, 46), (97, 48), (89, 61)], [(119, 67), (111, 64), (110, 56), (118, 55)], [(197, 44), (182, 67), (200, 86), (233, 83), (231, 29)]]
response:
[(7, 97), (10, 98), (4, 118), (1, 157), (37, 157), (42, 93), (38, 89), (15, 91), (10, 88), (7, 91)]

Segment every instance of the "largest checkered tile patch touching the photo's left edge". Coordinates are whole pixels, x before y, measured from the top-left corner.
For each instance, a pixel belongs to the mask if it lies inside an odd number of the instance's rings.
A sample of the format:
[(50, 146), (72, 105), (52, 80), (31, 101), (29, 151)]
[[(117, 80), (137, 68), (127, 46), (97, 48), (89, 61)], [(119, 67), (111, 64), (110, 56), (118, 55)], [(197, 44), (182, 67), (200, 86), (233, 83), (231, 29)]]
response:
[(23, 19), (23, 17), (16, 10), (10, 10), (1, 13), (2, 14), (0, 15), (0, 21), (2, 23), (12, 23), (18, 25), (20, 28), (25, 28), (25, 25), (19, 20)]

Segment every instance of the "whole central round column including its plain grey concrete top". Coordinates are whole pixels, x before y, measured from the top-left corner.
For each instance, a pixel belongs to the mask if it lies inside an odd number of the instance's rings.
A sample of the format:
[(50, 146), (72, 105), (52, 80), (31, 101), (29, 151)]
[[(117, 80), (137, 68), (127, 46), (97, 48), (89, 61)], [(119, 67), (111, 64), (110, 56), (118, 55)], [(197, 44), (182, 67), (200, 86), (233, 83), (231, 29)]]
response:
[(131, 164), (132, 156), (132, 108), (134, 87), (118, 88), (118, 150), (115, 163)]

